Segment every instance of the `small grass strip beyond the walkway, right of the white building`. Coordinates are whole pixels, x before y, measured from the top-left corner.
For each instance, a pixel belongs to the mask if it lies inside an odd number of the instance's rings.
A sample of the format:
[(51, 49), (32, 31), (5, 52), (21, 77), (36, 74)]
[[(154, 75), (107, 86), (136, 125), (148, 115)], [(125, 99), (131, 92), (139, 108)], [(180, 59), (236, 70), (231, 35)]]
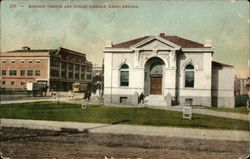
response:
[(199, 109), (209, 109), (219, 112), (231, 112), (231, 113), (240, 113), (240, 114), (248, 114), (249, 111), (247, 110), (246, 106), (236, 107), (236, 108), (211, 108), (211, 107), (204, 107), (204, 106), (192, 106), (193, 108)]

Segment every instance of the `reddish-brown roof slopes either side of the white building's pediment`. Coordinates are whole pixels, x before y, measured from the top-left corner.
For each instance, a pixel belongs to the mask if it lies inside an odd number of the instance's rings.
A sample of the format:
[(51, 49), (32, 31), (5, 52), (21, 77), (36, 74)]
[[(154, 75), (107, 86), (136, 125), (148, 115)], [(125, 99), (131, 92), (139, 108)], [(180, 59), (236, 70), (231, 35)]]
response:
[[(118, 43), (118, 44), (114, 44), (112, 46), (112, 48), (129, 48), (132, 45), (135, 45), (147, 38), (149, 38), (150, 36), (144, 36), (144, 37), (140, 37), (137, 39), (133, 39), (133, 40), (129, 40), (129, 41), (125, 41), (122, 43)], [(195, 41), (191, 41), (188, 39), (184, 39), (178, 36), (160, 36), (161, 38), (168, 40), (176, 45), (181, 46), (182, 48), (209, 48), (209, 47), (204, 47), (204, 44), (195, 42)]]

